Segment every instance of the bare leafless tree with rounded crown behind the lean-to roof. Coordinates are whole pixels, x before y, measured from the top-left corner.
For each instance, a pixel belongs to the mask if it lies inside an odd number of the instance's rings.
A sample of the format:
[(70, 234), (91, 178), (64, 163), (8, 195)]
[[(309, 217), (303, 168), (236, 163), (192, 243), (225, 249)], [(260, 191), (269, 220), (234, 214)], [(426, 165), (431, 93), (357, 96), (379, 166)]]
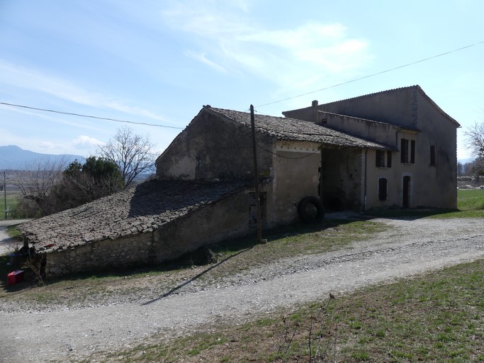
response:
[(128, 188), (137, 175), (152, 172), (157, 157), (153, 147), (147, 135), (136, 135), (131, 128), (124, 127), (106, 145), (98, 147), (97, 153), (118, 165), (124, 187)]

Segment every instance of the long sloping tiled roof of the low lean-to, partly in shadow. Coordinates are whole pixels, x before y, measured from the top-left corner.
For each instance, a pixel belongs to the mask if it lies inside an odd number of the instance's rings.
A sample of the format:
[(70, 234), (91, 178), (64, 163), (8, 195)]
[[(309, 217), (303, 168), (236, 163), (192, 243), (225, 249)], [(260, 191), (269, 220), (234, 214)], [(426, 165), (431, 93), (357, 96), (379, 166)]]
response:
[(244, 188), (243, 182), (152, 180), (18, 226), (40, 253), (149, 233)]

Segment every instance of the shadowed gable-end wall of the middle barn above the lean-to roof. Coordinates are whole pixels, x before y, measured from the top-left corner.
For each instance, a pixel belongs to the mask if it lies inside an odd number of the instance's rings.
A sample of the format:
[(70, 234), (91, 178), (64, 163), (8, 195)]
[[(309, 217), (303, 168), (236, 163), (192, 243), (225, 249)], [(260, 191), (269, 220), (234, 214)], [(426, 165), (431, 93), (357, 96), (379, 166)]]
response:
[[(269, 146), (269, 137), (257, 135)], [(161, 179), (228, 180), (254, 176), (250, 128), (203, 109), (157, 159)], [(271, 155), (258, 149), (259, 172), (269, 175)]]

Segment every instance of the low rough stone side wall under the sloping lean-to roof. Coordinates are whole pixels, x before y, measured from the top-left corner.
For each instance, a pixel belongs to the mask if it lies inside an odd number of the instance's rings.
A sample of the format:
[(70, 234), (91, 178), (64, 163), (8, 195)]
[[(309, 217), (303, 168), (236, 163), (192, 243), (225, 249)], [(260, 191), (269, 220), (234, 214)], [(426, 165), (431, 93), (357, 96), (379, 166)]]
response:
[(240, 191), (216, 203), (161, 225), (153, 232), (106, 239), (47, 253), (45, 276), (157, 264), (174, 259), (203, 245), (247, 235), (249, 195)]

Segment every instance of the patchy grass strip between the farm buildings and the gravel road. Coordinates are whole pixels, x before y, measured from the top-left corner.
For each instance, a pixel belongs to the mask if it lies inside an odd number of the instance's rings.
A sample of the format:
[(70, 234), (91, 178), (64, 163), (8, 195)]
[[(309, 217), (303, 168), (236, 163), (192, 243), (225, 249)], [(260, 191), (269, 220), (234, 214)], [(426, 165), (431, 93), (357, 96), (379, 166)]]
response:
[[(36, 286), (33, 277), (21, 284), (6, 286), (7, 271), (0, 269), (0, 299), (18, 302), (19, 305), (83, 306), (89, 305), (89, 302), (106, 303), (111, 296), (121, 301), (133, 296), (137, 296), (137, 300), (139, 296), (159, 298), (188, 283), (217, 284), (221, 279), (230, 279), (240, 272), (278, 259), (349, 247), (351, 242), (371, 238), (386, 228), (388, 226), (383, 223), (360, 220), (324, 220), (319, 225), (293, 225), (264, 235), (268, 240), (265, 245), (259, 245), (254, 238), (241, 238), (210, 246), (218, 257), (216, 264), (195, 266), (187, 257), (159, 267), (77, 274), (47, 280), (45, 286)], [(6, 267), (1, 260), (0, 265), (1, 268)]]

